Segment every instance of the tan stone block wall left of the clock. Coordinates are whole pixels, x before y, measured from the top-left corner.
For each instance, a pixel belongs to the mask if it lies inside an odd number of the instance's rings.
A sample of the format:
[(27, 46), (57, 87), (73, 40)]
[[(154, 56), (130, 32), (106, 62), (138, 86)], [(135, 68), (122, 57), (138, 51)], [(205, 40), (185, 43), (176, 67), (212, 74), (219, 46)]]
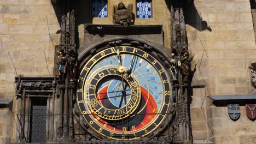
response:
[(59, 28), (49, 0), (0, 1), (0, 99), (14, 99), (13, 113), (0, 109), (0, 143), (16, 142), (18, 135), (14, 77), (53, 76)]

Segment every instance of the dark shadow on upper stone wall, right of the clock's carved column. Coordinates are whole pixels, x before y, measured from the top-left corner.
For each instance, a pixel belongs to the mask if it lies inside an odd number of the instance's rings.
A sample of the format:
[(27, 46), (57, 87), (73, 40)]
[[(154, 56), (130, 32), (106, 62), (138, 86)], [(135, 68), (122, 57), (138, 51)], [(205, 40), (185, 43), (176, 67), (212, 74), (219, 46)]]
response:
[(198, 13), (194, 1), (190, 1), (184, 5), (184, 15), (185, 15), (185, 24), (190, 25), (197, 29), (198, 31), (209, 31), (212, 32), (210, 26), (208, 26), (207, 21), (202, 20), (202, 17)]

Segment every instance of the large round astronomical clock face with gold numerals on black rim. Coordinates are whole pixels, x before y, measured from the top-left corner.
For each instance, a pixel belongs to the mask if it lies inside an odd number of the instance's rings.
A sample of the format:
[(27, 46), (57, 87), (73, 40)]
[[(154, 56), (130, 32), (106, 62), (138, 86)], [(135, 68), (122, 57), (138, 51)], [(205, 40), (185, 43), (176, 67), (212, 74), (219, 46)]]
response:
[(97, 133), (134, 140), (152, 133), (172, 103), (167, 70), (150, 53), (131, 46), (109, 47), (89, 58), (80, 73), (79, 109)]

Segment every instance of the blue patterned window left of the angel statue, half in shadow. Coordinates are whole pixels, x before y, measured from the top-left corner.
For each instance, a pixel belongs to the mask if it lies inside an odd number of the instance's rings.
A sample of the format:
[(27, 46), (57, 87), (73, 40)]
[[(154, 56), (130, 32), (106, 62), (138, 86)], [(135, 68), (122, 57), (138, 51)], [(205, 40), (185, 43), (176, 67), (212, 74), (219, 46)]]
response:
[(107, 0), (92, 0), (92, 17), (108, 17)]

